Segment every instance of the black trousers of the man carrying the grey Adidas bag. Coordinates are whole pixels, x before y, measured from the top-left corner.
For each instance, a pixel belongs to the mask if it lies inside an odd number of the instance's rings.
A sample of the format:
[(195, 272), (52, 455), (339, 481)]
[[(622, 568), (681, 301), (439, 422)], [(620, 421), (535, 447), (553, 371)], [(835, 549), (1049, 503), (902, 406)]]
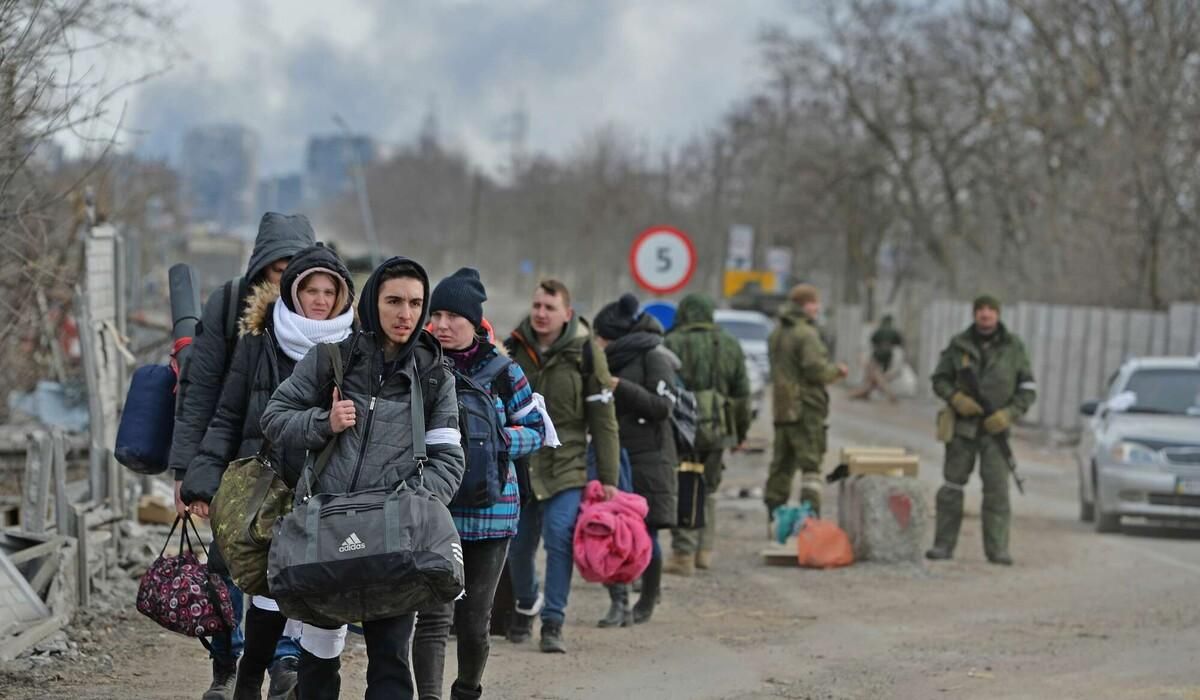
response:
[[(401, 615), (362, 623), (367, 642), (366, 700), (413, 700), (408, 653), (415, 616)], [(341, 659), (300, 654), (298, 692), (301, 700), (336, 700), (341, 692)]]

